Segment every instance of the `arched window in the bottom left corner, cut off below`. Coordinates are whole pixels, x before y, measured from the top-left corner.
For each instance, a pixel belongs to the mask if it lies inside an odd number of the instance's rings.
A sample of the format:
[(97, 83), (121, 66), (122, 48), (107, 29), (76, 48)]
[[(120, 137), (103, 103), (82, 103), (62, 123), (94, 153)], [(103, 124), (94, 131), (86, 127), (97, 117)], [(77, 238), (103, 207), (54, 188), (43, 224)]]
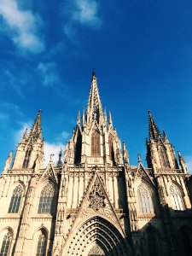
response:
[(0, 245), (0, 255), (9, 256), (11, 249), (11, 242), (13, 240), (13, 231), (11, 229), (5, 229), (1, 233), (1, 245)]

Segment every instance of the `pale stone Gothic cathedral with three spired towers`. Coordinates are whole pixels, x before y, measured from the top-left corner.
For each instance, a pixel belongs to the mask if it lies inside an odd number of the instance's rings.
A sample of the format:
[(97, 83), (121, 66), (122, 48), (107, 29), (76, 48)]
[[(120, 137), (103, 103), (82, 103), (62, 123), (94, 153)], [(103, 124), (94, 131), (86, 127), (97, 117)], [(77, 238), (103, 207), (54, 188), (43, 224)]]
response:
[(86, 111), (44, 168), (41, 111), (0, 177), (0, 256), (191, 256), (192, 177), (148, 112), (131, 166), (93, 72)]

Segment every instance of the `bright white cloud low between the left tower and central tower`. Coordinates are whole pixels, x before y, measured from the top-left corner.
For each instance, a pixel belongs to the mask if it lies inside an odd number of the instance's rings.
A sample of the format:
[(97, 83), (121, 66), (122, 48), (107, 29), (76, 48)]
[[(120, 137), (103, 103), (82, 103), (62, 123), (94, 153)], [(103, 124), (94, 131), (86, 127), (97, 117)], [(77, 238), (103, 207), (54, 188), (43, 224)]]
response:
[(65, 150), (65, 147), (62, 143), (52, 144), (52, 143), (44, 143), (44, 167), (46, 167), (50, 160), (50, 154), (54, 154), (53, 161), (54, 164), (57, 163), (59, 157), (58, 154), (60, 153), (60, 150), (62, 149), (62, 158), (63, 153)]

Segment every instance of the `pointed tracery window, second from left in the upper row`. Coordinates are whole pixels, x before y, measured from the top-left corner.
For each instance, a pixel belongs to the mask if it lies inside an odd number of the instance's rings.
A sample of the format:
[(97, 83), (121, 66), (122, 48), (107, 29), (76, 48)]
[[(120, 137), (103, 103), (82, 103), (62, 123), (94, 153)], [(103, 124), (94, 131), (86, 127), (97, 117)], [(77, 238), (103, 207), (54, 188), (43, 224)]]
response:
[(54, 205), (55, 189), (52, 183), (48, 183), (41, 191), (38, 204), (38, 213), (51, 213)]

